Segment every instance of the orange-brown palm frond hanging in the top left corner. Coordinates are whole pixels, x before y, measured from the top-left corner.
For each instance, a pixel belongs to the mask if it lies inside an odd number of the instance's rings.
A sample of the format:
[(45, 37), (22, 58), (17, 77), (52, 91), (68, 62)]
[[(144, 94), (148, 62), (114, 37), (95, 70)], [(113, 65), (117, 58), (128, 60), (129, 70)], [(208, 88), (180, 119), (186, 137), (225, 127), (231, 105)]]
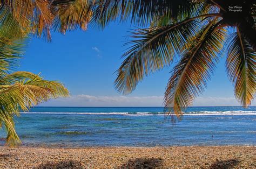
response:
[(51, 2), (44, 0), (6, 0), (2, 6), (11, 13), (22, 28), (51, 40), (50, 28), (53, 20)]

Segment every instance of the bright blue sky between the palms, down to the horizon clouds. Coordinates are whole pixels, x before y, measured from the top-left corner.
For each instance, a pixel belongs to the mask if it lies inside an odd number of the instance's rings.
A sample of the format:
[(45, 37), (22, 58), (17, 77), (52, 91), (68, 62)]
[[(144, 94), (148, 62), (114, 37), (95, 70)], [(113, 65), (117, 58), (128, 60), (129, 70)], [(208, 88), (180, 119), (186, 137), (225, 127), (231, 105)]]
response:
[[(128, 96), (114, 89), (114, 71), (123, 60), (120, 57), (126, 49), (123, 44), (128, 40), (127, 31), (133, 28), (130, 23), (112, 23), (104, 30), (89, 27), (65, 35), (52, 33), (51, 43), (32, 38), (18, 70), (41, 73), (70, 90), (71, 97), (51, 100), (43, 106), (161, 106), (171, 68), (145, 78)], [(224, 64), (225, 57), (194, 105), (238, 105)]]

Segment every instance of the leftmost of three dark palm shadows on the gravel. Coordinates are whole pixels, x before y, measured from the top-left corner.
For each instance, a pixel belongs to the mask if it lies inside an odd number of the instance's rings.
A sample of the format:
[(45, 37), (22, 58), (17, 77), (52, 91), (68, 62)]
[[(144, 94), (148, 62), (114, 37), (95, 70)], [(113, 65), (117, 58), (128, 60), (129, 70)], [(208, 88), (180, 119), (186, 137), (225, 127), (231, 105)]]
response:
[(66, 160), (66, 161), (58, 161), (58, 162), (50, 162), (41, 164), (34, 168), (40, 168), (40, 169), (48, 169), (48, 168), (84, 168), (84, 166), (78, 162), (73, 160)]

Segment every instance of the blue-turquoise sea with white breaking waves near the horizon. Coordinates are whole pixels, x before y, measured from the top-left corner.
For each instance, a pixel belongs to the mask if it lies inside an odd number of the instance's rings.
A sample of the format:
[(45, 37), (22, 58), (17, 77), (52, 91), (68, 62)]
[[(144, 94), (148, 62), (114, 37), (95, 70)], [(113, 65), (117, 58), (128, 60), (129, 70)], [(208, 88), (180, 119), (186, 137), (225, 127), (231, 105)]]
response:
[(256, 145), (256, 107), (191, 107), (176, 125), (161, 107), (35, 107), (16, 129), (24, 146)]

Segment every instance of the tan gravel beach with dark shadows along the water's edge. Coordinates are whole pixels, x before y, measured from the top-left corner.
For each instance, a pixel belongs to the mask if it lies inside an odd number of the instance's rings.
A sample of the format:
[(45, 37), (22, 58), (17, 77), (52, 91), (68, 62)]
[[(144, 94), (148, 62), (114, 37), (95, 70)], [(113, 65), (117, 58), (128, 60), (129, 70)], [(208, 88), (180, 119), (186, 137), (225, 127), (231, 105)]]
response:
[(0, 147), (0, 168), (65, 167), (256, 168), (256, 147)]

